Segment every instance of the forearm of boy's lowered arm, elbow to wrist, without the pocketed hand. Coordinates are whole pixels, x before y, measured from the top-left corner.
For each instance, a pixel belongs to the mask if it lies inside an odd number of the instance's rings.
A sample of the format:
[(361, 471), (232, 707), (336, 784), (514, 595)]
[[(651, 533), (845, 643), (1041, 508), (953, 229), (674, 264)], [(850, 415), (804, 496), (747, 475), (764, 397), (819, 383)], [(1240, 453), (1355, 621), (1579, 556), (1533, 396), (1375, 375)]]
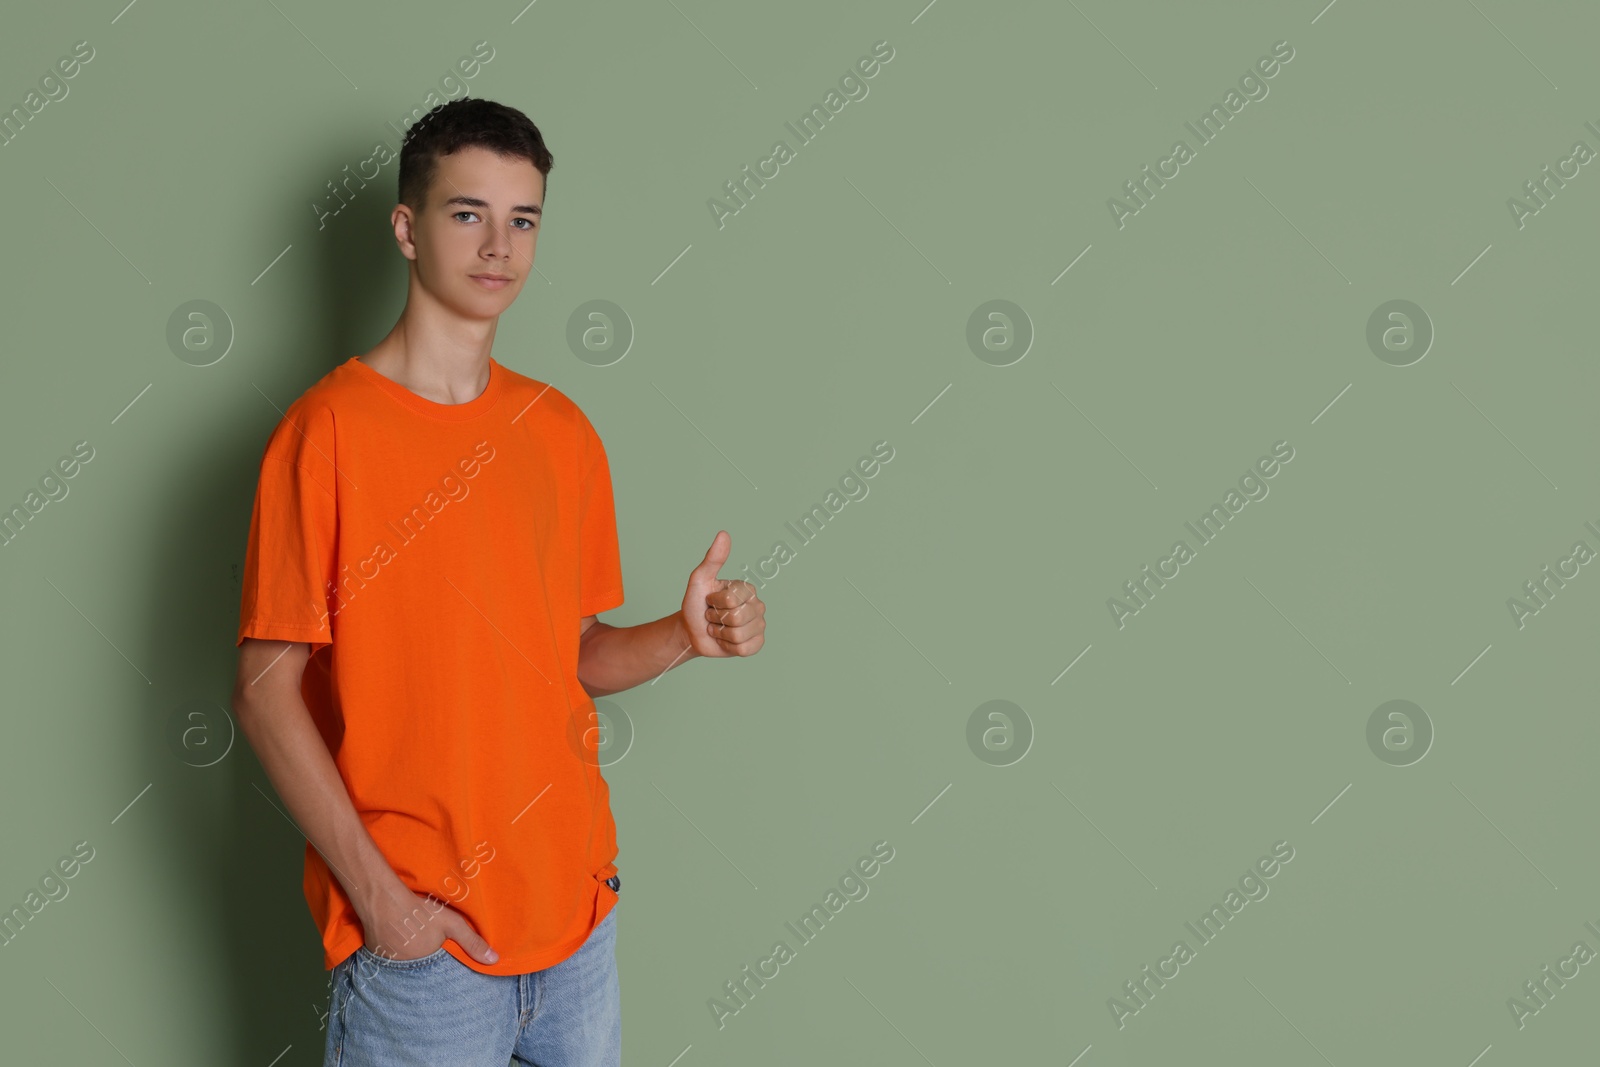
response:
[(306, 840), (322, 853), (363, 917), (400, 881), (355, 811), (328, 747), (298, 691), (235, 696), (240, 729)]

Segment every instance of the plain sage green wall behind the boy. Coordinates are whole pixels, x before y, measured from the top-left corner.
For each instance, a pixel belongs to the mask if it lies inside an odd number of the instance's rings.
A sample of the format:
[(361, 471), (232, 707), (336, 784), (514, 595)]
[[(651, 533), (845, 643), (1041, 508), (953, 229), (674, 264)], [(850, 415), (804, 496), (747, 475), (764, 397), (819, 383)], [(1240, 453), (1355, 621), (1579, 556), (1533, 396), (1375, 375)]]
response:
[[(94, 853), (0, 950), (5, 1059), (320, 1062), (304, 841), (221, 710), (238, 571), (278, 410), (403, 299), (395, 163), (318, 222), (326, 182), (398, 149), (478, 42), (445, 90), (526, 110), (557, 160), (494, 358), (606, 442), (605, 621), (674, 611), (717, 530), (723, 576), (795, 553), (758, 656), (602, 702), (634, 731), (606, 766), (629, 1064), (1592, 1054), (1600, 963), (1520, 1024), (1507, 1001), (1600, 952), (1600, 568), (1520, 624), (1507, 601), (1600, 550), (1600, 165), (1520, 224), (1507, 200), (1600, 150), (1600, 13), (1322, 5), (8, 11), (5, 109), (93, 59), (0, 147), (0, 502), (94, 456), (0, 550), (0, 904)], [(784, 123), (877, 42), (802, 146)], [(1200, 146), (1184, 123), (1278, 42)], [(778, 139), (794, 158), (718, 226)], [(1118, 226), (1178, 139), (1194, 158)], [(190, 301), (226, 314), (221, 358), (170, 342)], [(570, 344), (590, 301), (624, 358)], [(802, 545), (784, 523), (877, 442), (869, 494)], [(1278, 442), (1200, 547), (1186, 523)], [(1118, 625), (1107, 600), (1179, 539)], [(718, 1027), (723, 982), (874, 841), (869, 896)], [(1202, 945), (1184, 925), (1280, 841)]]

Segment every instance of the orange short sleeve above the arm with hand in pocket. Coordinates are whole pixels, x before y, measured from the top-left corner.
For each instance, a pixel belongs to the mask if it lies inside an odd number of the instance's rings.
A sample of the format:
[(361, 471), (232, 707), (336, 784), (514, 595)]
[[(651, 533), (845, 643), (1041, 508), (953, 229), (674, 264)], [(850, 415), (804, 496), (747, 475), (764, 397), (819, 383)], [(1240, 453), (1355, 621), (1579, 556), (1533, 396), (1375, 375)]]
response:
[(339, 512), (331, 414), (290, 408), (261, 458), (245, 547), (238, 637), (333, 643), (330, 595)]

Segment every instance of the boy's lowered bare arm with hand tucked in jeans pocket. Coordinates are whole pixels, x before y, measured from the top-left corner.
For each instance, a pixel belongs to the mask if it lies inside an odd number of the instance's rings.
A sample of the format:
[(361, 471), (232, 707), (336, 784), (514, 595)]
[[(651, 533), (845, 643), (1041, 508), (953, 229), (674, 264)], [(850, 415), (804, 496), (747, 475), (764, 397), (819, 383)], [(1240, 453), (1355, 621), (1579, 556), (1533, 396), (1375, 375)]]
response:
[(411, 893), (378, 851), (301, 697), (309, 657), (310, 646), (304, 643), (245, 638), (234, 681), (234, 715), (290, 817), (344, 886), (366, 945), (410, 960), (434, 952), (450, 937), (474, 957), (494, 963), (499, 957), (466, 917)]

